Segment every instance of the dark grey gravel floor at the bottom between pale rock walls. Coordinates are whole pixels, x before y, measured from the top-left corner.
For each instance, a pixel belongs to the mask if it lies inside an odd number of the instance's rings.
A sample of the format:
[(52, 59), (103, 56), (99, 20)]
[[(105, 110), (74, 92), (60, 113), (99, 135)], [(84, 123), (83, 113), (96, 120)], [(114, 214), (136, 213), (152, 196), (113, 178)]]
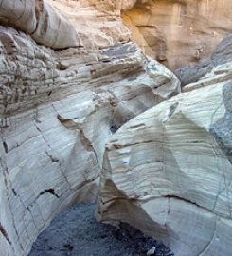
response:
[[(173, 256), (162, 243), (122, 223), (98, 223), (94, 205), (79, 205), (56, 217), (28, 256)], [(149, 252), (148, 252), (149, 251)]]

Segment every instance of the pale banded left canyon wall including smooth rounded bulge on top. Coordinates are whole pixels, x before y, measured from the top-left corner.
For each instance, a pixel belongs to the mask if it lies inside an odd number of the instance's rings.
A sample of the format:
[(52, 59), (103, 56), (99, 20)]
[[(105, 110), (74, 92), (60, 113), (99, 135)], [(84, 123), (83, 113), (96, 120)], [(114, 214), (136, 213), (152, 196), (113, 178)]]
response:
[(27, 255), (57, 213), (94, 201), (108, 138), (180, 92), (177, 78), (135, 44), (77, 47), (76, 28), (57, 11), (44, 1), (26, 3), (1, 1), (0, 9), (4, 256)]

